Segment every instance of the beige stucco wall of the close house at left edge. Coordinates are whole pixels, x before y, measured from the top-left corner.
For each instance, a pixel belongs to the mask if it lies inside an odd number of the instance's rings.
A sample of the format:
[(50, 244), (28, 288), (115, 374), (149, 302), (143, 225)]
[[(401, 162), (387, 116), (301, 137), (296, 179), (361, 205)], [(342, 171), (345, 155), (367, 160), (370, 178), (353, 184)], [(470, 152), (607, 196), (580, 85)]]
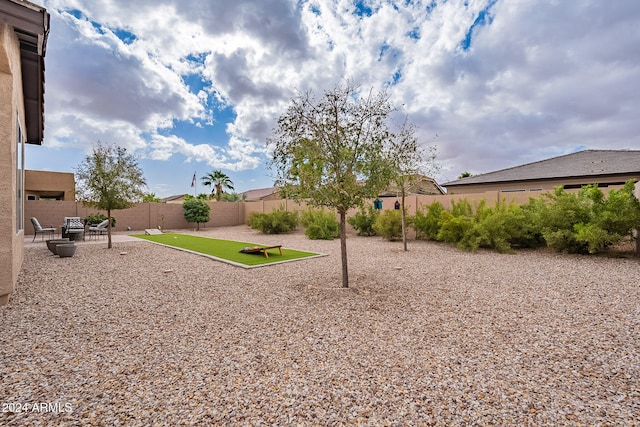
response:
[(24, 102), (20, 45), (13, 28), (0, 23), (0, 305), (13, 293), (24, 257), (24, 234), (16, 227), (16, 149)]

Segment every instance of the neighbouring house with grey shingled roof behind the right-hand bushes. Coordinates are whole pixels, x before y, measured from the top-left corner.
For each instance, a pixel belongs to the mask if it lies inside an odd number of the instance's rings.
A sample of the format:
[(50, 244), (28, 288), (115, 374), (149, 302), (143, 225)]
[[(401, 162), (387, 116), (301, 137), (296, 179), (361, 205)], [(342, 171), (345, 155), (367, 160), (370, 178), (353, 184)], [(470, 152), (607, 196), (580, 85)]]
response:
[(442, 184), (448, 194), (540, 192), (598, 184), (622, 185), (640, 180), (640, 151), (584, 150), (539, 162), (470, 176)]

